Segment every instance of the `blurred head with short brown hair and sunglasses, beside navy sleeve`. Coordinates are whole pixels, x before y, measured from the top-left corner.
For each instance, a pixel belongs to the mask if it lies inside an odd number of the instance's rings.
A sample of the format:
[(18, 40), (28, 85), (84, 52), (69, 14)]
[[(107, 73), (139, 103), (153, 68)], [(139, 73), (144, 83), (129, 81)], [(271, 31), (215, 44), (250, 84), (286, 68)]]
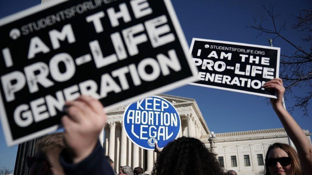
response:
[(27, 158), (30, 175), (65, 175), (59, 161), (65, 148), (63, 133), (53, 133), (36, 143), (36, 153)]

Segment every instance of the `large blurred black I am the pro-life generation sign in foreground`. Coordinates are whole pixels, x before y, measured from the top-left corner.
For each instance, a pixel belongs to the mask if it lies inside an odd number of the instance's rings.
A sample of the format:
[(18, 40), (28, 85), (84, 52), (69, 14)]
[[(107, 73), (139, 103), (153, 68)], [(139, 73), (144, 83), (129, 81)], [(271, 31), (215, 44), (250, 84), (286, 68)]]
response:
[(8, 145), (55, 130), (80, 94), (107, 110), (196, 80), (169, 0), (56, 0), (0, 21)]

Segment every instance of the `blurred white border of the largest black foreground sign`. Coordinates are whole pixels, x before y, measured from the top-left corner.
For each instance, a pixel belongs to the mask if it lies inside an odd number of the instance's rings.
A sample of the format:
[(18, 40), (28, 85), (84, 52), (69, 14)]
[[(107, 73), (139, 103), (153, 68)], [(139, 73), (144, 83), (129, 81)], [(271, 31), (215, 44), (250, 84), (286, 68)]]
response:
[[(10, 23), (12, 21), (16, 21), (16, 20), (18, 20), (18, 19), (20, 19), (22, 17), (34, 14), (34, 13), (42, 11), (42, 10), (48, 8), (48, 7), (52, 7), (52, 6), (56, 5), (56, 4), (59, 4), (61, 2), (66, 2), (66, 1), (68, 1), (68, 0), (49, 1), (47, 3), (44, 3), (43, 5), (38, 4), (38, 5), (34, 6), (34, 7), (28, 8), (28, 9), (23, 10), (21, 12), (18, 12), (16, 14), (13, 14), (13, 15), (10, 15), (8, 17), (4, 17), (4, 18), (0, 19), (0, 26), (5, 25), (7, 23)], [(192, 77), (188, 77), (188, 78), (184, 78), (182, 80), (179, 80), (177, 82), (165, 85), (163, 87), (159, 87), (159, 88), (154, 89), (152, 91), (145, 92), (143, 94), (134, 96), (134, 97), (129, 98), (127, 100), (115, 103), (114, 105), (106, 106), (105, 107), (106, 111), (110, 111), (110, 110), (112, 110), (114, 108), (117, 108), (119, 106), (135, 102), (135, 101), (143, 99), (145, 97), (149, 97), (149, 96), (152, 96), (152, 95), (155, 95), (155, 94), (159, 94), (159, 93), (162, 93), (162, 92), (166, 92), (166, 91), (172, 90), (174, 88), (181, 87), (183, 85), (186, 85), (189, 82), (197, 81), (198, 71), (197, 71), (197, 68), (192, 63), (192, 56), (191, 56), (191, 54), (189, 54), (188, 44), (187, 44), (187, 41), (185, 39), (184, 33), (182, 31), (181, 25), (180, 25), (180, 23), (178, 21), (178, 17), (177, 17), (177, 15), (176, 15), (176, 13), (175, 13), (175, 11), (173, 9), (171, 1), (170, 0), (163, 0), (163, 1), (164, 1), (165, 5), (167, 7), (169, 16), (170, 16), (170, 18), (172, 20), (173, 27), (174, 27), (175, 31), (177, 32), (178, 39), (180, 41), (180, 44), (181, 44), (182, 49), (184, 51), (184, 54), (187, 56), (188, 65), (189, 65), (189, 67), (191, 69), (191, 72), (193, 73), (193, 76)], [(46, 128), (44, 130), (40, 130), (40, 131), (37, 131), (37, 132), (32, 133), (30, 135), (27, 135), (27, 136), (21, 137), (19, 139), (13, 140), (12, 135), (11, 135), (11, 130), (9, 128), (9, 123), (7, 121), (7, 116), (6, 116), (5, 108), (4, 108), (4, 105), (3, 105), (1, 93), (0, 93), (0, 118), (1, 118), (1, 123), (2, 123), (2, 128), (3, 128), (5, 140), (6, 140), (6, 143), (7, 143), (8, 147), (12, 147), (12, 146), (14, 146), (16, 144), (23, 143), (23, 142), (26, 142), (26, 141), (31, 140), (31, 139), (35, 139), (35, 138), (39, 137), (40, 135), (45, 135), (45, 134), (51, 133), (51, 132), (57, 130), (57, 128), (59, 127), (59, 125), (54, 125), (54, 126)]]

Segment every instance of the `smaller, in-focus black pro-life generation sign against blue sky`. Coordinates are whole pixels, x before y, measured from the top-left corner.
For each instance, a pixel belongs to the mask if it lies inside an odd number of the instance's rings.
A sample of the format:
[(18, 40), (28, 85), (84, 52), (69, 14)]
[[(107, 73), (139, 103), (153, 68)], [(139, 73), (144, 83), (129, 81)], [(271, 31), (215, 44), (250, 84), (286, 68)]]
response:
[(193, 38), (190, 52), (199, 71), (190, 84), (276, 98), (262, 86), (278, 77), (280, 48)]

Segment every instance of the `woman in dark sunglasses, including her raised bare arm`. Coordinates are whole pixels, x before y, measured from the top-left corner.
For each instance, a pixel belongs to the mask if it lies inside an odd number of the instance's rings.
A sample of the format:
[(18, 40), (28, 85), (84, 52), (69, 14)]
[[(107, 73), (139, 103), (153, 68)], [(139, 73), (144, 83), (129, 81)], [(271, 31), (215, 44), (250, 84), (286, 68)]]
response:
[(275, 89), (277, 99), (271, 98), (271, 105), (282, 122), (288, 136), (294, 142), (298, 153), (287, 144), (275, 143), (266, 153), (265, 175), (309, 175), (312, 174), (312, 147), (305, 133), (282, 106), (285, 92), (283, 81), (275, 78), (263, 86)]

